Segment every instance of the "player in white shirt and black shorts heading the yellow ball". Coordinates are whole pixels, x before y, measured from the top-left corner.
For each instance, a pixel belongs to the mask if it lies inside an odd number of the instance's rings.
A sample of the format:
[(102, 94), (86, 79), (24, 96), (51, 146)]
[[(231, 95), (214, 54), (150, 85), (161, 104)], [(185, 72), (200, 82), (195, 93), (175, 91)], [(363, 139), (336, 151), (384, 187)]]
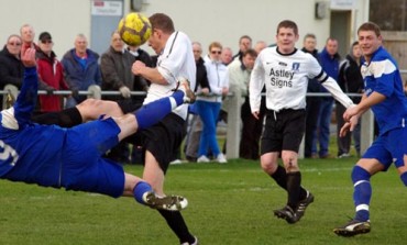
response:
[[(195, 88), (196, 80), (193, 45), (188, 36), (175, 31), (172, 19), (164, 13), (155, 13), (148, 19), (153, 29), (148, 45), (158, 55), (157, 66), (151, 68), (138, 60), (132, 67), (134, 75), (152, 82), (144, 104), (172, 94), (180, 79), (189, 80), (191, 88)], [(157, 194), (163, 196), (165, 172), (184, 140), (188, 105), (180, 105), (173, 112), (161, 123), (143, 132), (146, 135), (143, 178)], [(176, 233), (180, 244), (198, 244), (198, 240), (189, 233), (180, 212), (161, 210), (160, 213)]]

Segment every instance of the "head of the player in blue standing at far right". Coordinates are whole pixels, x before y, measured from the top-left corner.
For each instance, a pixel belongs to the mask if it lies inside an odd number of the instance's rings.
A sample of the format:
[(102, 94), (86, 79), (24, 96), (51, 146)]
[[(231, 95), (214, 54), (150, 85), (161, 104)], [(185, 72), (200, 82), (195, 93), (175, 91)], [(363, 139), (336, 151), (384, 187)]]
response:
[(370, 60), (373, 53), (382, 45), (381, 29), (373, 22), (365, 22), (358, 29), (358, 38), (363, 56)]

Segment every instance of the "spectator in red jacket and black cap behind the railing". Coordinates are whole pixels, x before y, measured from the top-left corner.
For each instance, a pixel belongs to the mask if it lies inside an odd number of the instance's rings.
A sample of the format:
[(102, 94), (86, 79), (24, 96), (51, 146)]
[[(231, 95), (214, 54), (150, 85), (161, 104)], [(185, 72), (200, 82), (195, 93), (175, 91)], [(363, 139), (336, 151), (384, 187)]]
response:
[(54, 112), (63, 109), (62, 97), (54, 96), (53, 90), (67, 90), (64, 79), (64, 68), (53, 52), (53, 40), (48, 32), (43, 32), (38, 37), (37, 73), (43, 88), (47, 94), (40, 96), (40, 111)]

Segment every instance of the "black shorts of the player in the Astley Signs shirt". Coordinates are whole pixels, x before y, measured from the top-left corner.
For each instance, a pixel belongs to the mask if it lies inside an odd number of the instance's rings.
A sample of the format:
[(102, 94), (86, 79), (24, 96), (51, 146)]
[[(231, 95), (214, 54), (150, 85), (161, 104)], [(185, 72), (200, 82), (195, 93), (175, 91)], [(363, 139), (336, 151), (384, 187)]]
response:
[(266, 123), (262, 135), (261, 155), (271, 152), (293, 151), (298, 153), (306, 122), (306, 111), (286, 109), (266, 111)]

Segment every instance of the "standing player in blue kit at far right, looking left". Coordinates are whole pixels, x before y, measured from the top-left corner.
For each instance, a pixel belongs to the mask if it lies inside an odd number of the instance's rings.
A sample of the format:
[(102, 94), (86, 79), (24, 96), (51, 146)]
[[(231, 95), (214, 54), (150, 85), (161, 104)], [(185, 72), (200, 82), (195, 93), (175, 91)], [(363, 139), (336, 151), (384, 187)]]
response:
[(358, 118), (369, 109), (372, 109), (377, 121), (380, 135), (353, 167), (355, 216), (333, 230), (341, 236), (371, 231), (371, 176), (386, 171), (394, 163), (402, 181), (407, 186), (407, 98), (400, 73), (394, 58), (382, 47), (381, 30), (375, 23), (362, 24), (358, 36), (365, 59), (361, 67), (365, 93), (356, 107), (349, 108), (343, 114), (348, 123), (341, 129), (341, 135), (352, 130)]

